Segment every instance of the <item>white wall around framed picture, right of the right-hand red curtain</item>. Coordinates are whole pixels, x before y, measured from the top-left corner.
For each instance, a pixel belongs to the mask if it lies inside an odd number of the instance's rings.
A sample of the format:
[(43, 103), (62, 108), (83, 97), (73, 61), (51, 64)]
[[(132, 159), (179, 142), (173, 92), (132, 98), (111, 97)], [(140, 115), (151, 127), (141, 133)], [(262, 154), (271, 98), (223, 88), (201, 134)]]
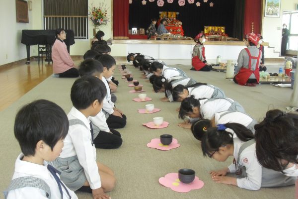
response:
[(281, 0), (280, 17), (263, 16), (262, 35), (264, 41), (269, 42), (270, 47), (275, 47), (275, 51), (280, 52), (281, 49), (283, 11), (295, 10), (296, 4), (298, 4), (298, 0)]

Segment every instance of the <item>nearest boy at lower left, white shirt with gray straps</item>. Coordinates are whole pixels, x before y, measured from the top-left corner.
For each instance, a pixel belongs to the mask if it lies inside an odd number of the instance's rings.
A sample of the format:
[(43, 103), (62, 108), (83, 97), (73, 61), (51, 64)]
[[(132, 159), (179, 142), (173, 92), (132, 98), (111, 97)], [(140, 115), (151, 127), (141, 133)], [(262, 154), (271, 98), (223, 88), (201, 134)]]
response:
[(60, 155), (68, 128), (65, 112), (51, 101), (36, 100), (18, 111), (14, 136), (22, 153), (15, 161), (5, 199), (77, 199), (61, 182), (59, 171), (46, 162)]

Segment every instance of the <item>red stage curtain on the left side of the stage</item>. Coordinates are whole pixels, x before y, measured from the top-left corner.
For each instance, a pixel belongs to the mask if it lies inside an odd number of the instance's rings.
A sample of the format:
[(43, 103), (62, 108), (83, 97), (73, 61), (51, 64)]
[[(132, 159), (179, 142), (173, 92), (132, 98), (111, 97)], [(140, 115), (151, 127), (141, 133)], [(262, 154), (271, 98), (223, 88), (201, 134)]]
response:
[(129, 0), (113, 0), (113, 39), (128, 39)]

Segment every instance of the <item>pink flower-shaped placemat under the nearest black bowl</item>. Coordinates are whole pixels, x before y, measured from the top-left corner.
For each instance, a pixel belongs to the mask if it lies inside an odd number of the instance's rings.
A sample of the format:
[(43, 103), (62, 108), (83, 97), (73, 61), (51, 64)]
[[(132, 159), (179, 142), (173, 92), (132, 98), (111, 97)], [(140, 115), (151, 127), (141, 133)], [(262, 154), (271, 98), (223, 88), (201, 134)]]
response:
[(181, 183), (178, 178), (178, 173), (169, 173), (164, 177), (159, 178), (158, 182), (164, 187), (170, 188), (175, 192), (186, 193), (191, 190), (198, 190), (204, 186), (204, 182), (196, 176), (195, 180), (190, 184)]

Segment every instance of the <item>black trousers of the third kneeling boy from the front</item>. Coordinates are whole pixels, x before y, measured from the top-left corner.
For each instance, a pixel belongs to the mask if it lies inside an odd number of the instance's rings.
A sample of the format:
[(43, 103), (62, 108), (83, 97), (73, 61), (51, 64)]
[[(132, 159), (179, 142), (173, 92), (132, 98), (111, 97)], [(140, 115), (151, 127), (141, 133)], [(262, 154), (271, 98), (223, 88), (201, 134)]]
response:
[(115, 129), (110, 128), (110, 132), (100, 131), (94, 139), (97, 149), (117, 149), (122, 145), (121, 134)]

